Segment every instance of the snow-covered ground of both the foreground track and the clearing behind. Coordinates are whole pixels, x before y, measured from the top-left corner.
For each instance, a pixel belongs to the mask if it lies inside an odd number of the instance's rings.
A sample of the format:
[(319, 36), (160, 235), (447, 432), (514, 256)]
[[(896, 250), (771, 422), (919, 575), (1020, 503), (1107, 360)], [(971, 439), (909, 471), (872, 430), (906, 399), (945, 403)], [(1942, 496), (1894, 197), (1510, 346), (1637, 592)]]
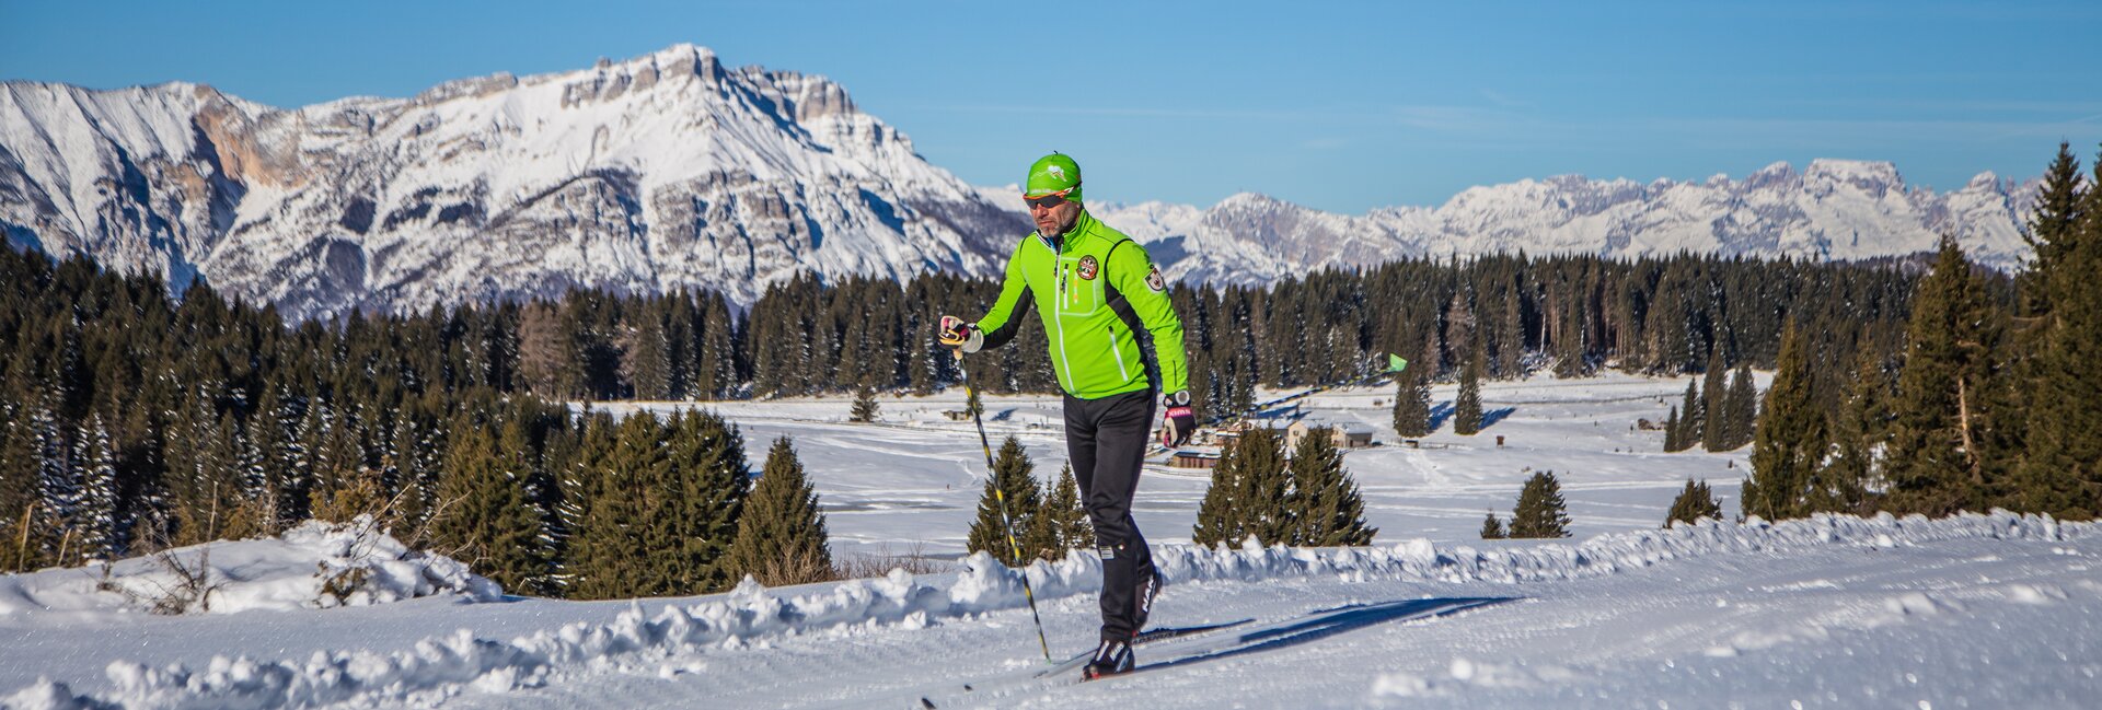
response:
[[(0, 702), (19, 708), (2091, 708), (2102, 697), (2102, 536), (1972, 515), (1656, 529), (1686, 477), (1736, 510), (1745, 452), (1656, 454), (1684, 380), (1488, 384), (1478, 437), (1352, 452), (1368, 548), (1202, 550), (1204, 481), (1154, 473), (1139, 525), (1169, 588), (1154, 626), (1242, 622), (1146, 645), (1141, 672), (1045, 668), (1017, 573), (946, 573), (696, 599), (462, 594), (341, 609), (162, 618), (0, 611)], [(1383, 431), (1392, 391), (1316, 399)], [(1450, 401), (1450, 389), (1438, 397)], [(1663, 399), (1663, 403), (1658, 401)], [(792, 435), (841, 552), (961, 550), (984, 460), (948, 399), (736, 403), (746, 447)], [(990, 399), (1055, 477), (1053, 399)], [(834, 422), (824, 422), (832, 418)], [(1495, 435), (1505, 445), (1495, 445)], [(1734, 466), (1732, 466), (1734, 464)], [(1526, 468), (1564, 481), (1576, 538), (1474, 540)], [(313, 563), (305, 563), (313, 569)], [(46, 571), (44, 576), (65, 571)], [(74, 571), (88, 576), (88, 571)], [(1062, 660), (1091, 647), (1099, 565), (1028, 571)], [(21, 586), (21, 578), (6, 578)], [(286, 586), (286, 584), (277, 584)], [(385, 601), (385, 599), (374, 599)]]

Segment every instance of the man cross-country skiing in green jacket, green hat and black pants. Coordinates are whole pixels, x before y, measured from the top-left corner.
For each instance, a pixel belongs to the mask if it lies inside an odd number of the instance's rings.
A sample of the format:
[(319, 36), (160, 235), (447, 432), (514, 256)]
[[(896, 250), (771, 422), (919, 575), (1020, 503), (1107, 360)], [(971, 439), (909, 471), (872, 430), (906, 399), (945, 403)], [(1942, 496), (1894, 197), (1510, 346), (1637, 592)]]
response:
[(1131, 641), (1160, 590), (1131, 496), (1154, 401), (1165, 405), (1162, 443), (1181, 445), (1196, 429), (1190, 372), (1167, 279), (1143, 246), (1087, 214), (1080, 166), (1062, 153), (1036, 160), (1022, 200), (1036, 231), (1007, 260), (998, 300), (975, 323), (944, 315), (940, 338), (977, 353), (1007, 344), (1032, 307), (1043, 317), (1066, 391), (1066, 452), (1101, 552), (1101, 645), (1083, 670), (1097, 678), (1131, 670)]

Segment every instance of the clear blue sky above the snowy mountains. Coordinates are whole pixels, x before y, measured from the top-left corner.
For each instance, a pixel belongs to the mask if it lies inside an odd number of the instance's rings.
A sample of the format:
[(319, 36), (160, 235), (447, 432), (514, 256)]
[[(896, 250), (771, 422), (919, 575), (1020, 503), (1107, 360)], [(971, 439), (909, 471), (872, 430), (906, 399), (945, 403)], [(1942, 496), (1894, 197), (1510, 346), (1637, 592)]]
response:
[(677, 42), (839, 80), (982, 185), (1364, 212), (1528, 176), (1890, 160), (2035, 176), (2102, 143), (2102, 2), (23, 2), (0, 78), (296, 107)]

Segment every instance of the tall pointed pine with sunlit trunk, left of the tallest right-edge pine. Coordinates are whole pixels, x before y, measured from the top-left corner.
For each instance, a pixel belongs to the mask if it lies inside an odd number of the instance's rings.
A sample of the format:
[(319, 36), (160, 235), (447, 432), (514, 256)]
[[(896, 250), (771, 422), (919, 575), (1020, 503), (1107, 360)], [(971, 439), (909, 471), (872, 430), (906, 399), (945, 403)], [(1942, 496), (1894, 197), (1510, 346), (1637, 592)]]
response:
[(1984, 281), (1955, 239), (1942, 237), (1934, 271), (1919, 281), (1898, 372), (1890, 443), (1894, 513), (1951, 515), (1991, 498), (1982, 437), (1993, 389), (1993, 315)]

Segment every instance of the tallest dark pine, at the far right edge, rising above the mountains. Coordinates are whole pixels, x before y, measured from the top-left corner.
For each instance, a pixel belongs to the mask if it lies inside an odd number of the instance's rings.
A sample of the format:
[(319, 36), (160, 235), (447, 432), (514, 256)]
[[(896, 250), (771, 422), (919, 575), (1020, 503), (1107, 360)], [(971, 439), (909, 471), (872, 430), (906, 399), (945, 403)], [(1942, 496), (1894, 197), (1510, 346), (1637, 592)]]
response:
[(2060, 519), (2102, 517), (2102, 158), (2098, 179), (2079, 185), (2066, 145), (2045, 172), (2028, 237), (2037, 248), (2031, 284), (2043, 311), (2033, 342), (2018, 504)]

